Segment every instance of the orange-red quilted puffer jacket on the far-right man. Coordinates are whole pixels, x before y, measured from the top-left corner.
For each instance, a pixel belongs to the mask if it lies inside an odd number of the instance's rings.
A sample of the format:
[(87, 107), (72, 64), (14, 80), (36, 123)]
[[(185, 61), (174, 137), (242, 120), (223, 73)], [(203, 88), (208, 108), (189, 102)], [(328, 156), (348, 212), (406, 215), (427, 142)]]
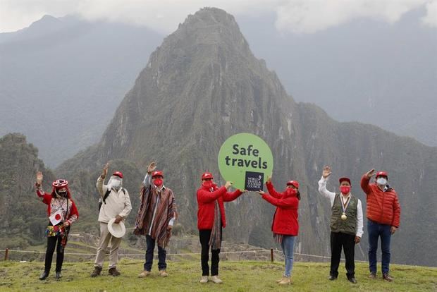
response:
[(400, 205), (398, 194), (390, 188), (386, 192), (378, 188), (376, 183), (369, 184), (370, 178), (361, 178), (361, 188), (367, 194), (367, 219), (399, 227)]

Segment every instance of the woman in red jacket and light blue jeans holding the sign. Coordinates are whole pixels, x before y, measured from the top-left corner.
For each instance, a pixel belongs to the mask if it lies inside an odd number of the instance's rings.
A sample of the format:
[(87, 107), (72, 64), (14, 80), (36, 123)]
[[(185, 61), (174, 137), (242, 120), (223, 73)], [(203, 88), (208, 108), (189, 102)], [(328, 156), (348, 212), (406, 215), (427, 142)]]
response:
[(278, 193), (271, 183), (271, 177), (267, 178), (266, 187), (269, 193), (259, 190), (262, 198), (271, 205), (276, 206), (273, 215), (271, 231), (277, 243), (281, 243), (281, 248), (285, 257), (285, 272), (283, 278), (278, 281), (280, 285), (291, 284), (290, 276), (293, 269), (293, 248), (295, 238), (299, 233), (299, 221), (297, 220), (299, 209), (300, 193), (297, 181), (288, 181), (283, 193)]

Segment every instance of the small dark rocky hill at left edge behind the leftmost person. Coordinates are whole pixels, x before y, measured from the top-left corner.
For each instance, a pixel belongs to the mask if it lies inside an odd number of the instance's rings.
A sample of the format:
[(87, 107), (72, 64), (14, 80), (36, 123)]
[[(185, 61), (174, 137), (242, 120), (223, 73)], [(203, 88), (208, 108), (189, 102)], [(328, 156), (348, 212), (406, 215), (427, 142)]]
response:
[(24, 135), (0, 138), (0, 243), (23, 248), (44, 238), (47, 207), (33, 189), (37, 171), (44, 173), (44, 188), (50, 189), (54, 175), (38, 158), (38, 150)]

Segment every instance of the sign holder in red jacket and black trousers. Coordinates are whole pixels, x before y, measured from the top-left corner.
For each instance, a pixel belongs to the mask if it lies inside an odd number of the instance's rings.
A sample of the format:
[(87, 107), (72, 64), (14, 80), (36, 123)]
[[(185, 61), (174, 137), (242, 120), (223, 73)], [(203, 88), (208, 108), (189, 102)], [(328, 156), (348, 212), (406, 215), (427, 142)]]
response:
[(226, 227), (226, 214), (223, 202), (230, 202), (240, 197), (246, 190), (235, 190), (228, 192), (232, 183), (220, 188), (214, 183), (211, 173), (202, 174), (202, 186), (197, 190), (197, 229), (199, 229), (199, 240), (202, 245), (201, 263), (202, 278), (200, 283), (209, 281), (209, 247), (211, 247), (211, 281), (221, 284), (219, 279), (219, 253), (221, 248), (222, 229)]

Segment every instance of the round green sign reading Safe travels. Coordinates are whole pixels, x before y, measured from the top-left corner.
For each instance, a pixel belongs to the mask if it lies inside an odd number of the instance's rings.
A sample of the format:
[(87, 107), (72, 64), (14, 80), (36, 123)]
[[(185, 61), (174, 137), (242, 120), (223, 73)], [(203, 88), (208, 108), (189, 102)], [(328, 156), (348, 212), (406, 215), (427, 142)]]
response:
[(230, 136), (221, 145), (218, 160), (222, 178), (240, 190), (262, 190), (273, 171), (269, 145), (250, 133)]

